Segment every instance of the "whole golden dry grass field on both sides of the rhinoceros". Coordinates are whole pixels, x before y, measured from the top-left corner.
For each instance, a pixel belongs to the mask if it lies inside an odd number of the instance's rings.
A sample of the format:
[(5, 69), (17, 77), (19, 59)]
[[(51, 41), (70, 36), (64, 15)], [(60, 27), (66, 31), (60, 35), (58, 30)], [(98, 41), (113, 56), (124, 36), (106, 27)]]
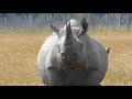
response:
[[(50, 31), (0, 31), (0, 86), (42, 86), (36, 56)], [(35, 33), (36, 32), (36, 33)], [(109, 68), (102, 85), (132, 85), (132, 33), (89, 31), (110, 47)]]

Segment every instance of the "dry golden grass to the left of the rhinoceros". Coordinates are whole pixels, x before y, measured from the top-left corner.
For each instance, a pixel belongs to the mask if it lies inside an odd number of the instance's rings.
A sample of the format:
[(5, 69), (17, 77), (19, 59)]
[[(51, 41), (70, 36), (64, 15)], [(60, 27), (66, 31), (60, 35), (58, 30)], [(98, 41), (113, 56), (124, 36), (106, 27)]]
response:
[[(43, 31), (42, 31), (43, 32)], [(29, 31), (0, 33), (0, 85), (42, 85), (36, 70), (36, 56), (50, 35)]]

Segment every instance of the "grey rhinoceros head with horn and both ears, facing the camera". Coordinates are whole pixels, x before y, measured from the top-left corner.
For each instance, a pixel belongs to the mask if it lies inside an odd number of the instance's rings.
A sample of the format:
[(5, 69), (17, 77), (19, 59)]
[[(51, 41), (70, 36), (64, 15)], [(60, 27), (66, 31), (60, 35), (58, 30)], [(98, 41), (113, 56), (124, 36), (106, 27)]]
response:
[(57, 59), (68, 67), (82, 65), (86, 61), (86, 47), (79, 38), (87, 32), (88, 23), (86, 19), (81, 20), (80, 25), (80, 28), (76, 28), (75, 24), (73, 28), (73, 23), (70, 24), (70, 21), (68, 21), (61, 31), (56, 26), (52, 26), (58, 35)]

